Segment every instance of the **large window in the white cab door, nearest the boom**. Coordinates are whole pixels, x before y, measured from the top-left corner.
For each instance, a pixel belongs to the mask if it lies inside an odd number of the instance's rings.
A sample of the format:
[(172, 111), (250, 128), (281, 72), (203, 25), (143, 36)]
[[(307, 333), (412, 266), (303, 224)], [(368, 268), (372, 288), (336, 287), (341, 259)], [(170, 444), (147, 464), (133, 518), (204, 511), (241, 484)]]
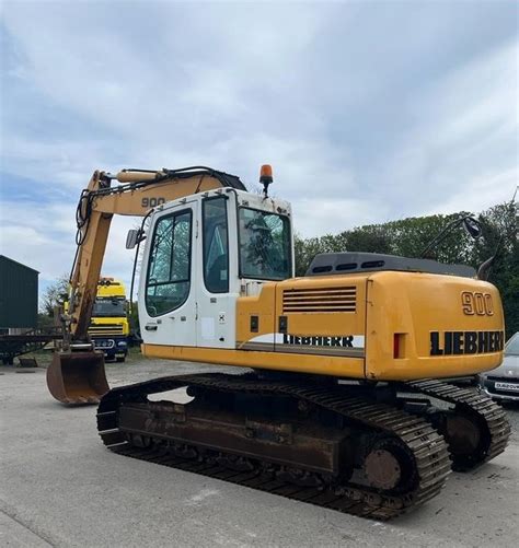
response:
[(146, 280), (146, 308), (150, 316), (174, 311), (187, 300), (191, 240), (191, 211), (180, 211), (157, 222)]

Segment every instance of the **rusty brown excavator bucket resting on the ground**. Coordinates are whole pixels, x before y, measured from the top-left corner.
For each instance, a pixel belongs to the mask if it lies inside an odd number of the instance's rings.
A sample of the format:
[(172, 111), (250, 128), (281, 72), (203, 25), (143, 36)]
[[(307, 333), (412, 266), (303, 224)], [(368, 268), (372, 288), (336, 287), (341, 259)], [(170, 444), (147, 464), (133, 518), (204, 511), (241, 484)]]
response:
[(47, 369), (50, 394), (62, 404), (99, 404), (109, 390), (101, 352), (55, 352)]

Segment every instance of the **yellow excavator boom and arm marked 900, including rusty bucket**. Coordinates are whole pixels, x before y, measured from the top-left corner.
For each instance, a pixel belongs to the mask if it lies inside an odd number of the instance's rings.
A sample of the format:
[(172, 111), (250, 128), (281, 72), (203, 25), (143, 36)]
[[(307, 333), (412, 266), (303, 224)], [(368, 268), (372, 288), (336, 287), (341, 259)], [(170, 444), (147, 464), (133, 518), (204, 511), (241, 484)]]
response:
[[(120, 185), (113, 186), (114, 180)], [(245, 190), (237, 176), (203, 166), (93, 173), (77, 209), (78, 250), (62, 316), (64, 343), (47, 370), (47, 386), (57, 400), (97, 404), (109, 389), (103, 354), (94, 351), (88, 329), (113, 215), (145, 217), (169, 201), (223, 187)]]

